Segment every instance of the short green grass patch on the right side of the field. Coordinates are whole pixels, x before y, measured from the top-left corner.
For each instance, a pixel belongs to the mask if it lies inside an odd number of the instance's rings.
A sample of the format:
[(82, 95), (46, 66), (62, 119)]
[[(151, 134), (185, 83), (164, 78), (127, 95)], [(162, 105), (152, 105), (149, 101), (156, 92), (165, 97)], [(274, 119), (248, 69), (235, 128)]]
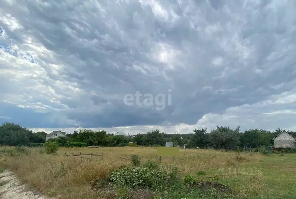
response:
[(196, 178), (228, 185), (236, 198), (296, 198), (296, 154), (271, 155), (257, 162), (205, 172)]

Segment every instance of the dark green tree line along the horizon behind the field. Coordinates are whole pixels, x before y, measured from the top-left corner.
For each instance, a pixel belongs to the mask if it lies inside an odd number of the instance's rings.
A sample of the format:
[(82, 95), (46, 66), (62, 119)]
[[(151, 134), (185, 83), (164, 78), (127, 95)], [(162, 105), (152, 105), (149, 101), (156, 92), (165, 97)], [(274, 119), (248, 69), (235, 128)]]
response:
[[(262, 129), (249, 129), (240, 131), (238, 126), (231, 129), (226, 126), (217, 126), (210, 132), (206, 128), (194, 129), (189, 134), (166, 134), (160, 130), (151, 130), (146, 134), (125, 137), (108, 134), (106, 131), (91, 131), (83, 129), (66, 134), (65, 137), (49, 139), (57, 142), (59, 146), (129, 146), (129, 142), (136, 142), (137, 146), (164, 146), (165, 141), (173, 141), (175, 146), (187, 145), (188, 148), (214, 147), (218, 149), (233, 149), (238, 147), (255, 148), (257, 146), (273, 146), (272, 138), (283, 130), (274, 131)], [(293, 131), (287, 131), (296, 136)], [(44, 143), (45, 132), (33, 133), (28, 128), (14, 123), (2, 123), (0, 126), (0, 145), (34, 146), (32, 143)]]

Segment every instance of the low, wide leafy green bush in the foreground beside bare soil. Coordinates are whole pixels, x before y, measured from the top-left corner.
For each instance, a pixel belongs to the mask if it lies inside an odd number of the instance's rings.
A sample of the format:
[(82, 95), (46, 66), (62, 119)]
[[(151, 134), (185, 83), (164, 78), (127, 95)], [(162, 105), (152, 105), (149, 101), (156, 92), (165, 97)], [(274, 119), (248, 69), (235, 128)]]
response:
[(170, 176), (151, 168), (123, 168), (111, 172), (110, 180), (117, 186), (149, 187), (159, 189), (167, 185)]

